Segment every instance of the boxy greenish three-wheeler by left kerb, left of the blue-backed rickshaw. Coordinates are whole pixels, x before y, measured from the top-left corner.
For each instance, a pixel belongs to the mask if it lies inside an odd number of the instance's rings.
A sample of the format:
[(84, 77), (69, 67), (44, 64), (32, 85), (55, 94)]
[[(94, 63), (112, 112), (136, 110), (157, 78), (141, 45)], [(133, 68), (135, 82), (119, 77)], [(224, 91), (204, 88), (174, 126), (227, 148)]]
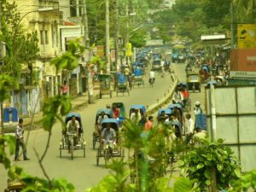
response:
[(102, 95), (109, 95), (112, 98), (111, 82), (112, 76), (110, 74), (100, 74), (100, 98)]

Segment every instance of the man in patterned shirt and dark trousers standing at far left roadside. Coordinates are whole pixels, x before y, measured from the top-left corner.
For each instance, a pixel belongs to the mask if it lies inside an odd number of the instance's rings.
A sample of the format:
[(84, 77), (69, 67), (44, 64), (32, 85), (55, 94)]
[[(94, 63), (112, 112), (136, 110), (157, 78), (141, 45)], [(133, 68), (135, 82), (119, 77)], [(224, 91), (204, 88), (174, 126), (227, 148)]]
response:
[(19, 160), (20, 146), (23, 152), (23, 160), (29, 160), (26, 156), (26, 145), (24, 141), (24, 129), (23, 129), (23, 119), (19, 119), (19, 124), (17, 125), (16, 132), (16, 145), (15, 145), (15, 160)]

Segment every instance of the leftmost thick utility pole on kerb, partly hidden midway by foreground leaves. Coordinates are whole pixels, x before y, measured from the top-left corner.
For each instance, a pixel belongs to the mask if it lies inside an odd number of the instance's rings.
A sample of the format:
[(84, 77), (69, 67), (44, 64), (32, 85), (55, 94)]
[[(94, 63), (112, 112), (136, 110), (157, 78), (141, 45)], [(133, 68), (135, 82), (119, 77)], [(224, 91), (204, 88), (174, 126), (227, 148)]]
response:
[[(86, 0), (83, 1), (83, 21), (84, 21), (84, 46), (87, 51), (90, 51), (90, 39), (89, 39), (89, 32), (88, 32), (88, 19), (87, 19), (87, 9), (86, 9)], [(93, 93), (93, 83), (90, 74), (90, 67), (86, 66), (87, 68), (87, 85), (88, 85), (88, 102), (90, 104), (95, 103), (94, 93)]]

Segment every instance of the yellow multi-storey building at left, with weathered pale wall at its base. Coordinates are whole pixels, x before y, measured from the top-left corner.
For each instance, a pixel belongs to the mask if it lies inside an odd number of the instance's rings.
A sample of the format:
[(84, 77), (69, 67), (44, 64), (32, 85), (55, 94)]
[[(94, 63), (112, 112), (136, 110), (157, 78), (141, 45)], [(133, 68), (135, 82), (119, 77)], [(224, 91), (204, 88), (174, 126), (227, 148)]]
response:
[[(7, 0), (12, 3), (13, 0)], [(26, 32), (38, 32), (39, 58), (33, 63), (32, 70), (37, 73), (38, 84), (23, 82), (21, 91), (13, 94), (13, 105), (22, 114), (38, 112), (40, 103), (49, 96), (55, 96), (61, 84), (61, 73), (56, 74), (55, 67), (49, 62), (61, 52), (59, 26), (62, 23), (59, 0), (15, 0), (20, 12), (20, 26)], [(26, 69), (21, 71), (22, 77), (30, 75)], [(40, 100), (38, 100), (38, 96)]]

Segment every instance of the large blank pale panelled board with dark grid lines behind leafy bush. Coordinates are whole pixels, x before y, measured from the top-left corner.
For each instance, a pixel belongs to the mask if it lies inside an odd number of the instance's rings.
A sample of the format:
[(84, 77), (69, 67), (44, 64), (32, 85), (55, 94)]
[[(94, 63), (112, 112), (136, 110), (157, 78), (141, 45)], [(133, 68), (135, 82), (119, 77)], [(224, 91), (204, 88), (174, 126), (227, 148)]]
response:
[(256, 88), (255, 85), (206, 89), (207, 130), (223, 138), (241, 162), (241, 171), (256, 169)]

